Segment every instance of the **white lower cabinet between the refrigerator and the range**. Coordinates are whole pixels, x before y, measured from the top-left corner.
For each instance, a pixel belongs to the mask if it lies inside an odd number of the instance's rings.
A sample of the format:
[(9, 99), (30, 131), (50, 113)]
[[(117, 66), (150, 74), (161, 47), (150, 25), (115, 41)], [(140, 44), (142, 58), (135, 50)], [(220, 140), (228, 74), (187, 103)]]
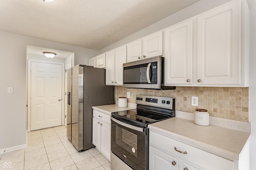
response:
[(92, 144), (108, 160), (110, 160), (110, 142), (111, 142), (111, 119), (99, 111), (93, 110), (92, 118)]

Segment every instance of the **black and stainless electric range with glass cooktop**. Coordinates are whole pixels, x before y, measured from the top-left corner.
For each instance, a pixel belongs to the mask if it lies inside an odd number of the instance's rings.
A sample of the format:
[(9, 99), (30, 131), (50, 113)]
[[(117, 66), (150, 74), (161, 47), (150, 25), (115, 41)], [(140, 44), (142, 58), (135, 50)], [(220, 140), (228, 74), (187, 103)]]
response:
[(148, 125), (175, 117), (172, 97), (136, 95), (137, 109), (111, 116), (112, 170), (148, 170)]

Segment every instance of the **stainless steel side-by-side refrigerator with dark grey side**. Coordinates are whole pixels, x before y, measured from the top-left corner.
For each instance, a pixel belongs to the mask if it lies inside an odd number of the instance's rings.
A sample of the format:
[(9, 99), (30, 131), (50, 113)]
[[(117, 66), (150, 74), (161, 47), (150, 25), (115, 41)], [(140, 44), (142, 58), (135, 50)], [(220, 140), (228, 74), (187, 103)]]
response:
[(78, 151), (92, 144), (92, 106), (114, 104), (114, 86), (106, 86), (106, 70), (76, 65), (67, 70), (67, 137)]

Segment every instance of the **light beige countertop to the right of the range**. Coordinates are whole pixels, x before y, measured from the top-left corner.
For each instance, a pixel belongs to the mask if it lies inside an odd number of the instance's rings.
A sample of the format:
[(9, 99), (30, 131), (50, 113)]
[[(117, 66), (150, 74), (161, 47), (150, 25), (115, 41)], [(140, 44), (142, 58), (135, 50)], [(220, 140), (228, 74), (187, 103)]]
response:
[(161, 135), (234, 160), (238, 160), (250, 136), (248, 132), (225, 127), (196, 125), (194, 121), (180, 117), (159, 121), (148, 127)]

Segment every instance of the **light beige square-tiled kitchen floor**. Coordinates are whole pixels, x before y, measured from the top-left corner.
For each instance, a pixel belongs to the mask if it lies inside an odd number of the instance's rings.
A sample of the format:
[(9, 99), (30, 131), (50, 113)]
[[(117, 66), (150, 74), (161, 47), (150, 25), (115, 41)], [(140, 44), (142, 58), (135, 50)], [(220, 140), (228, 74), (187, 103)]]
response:
[(111, 170), (95, 148), (78, 152), (58, 126), (28, 133), (28, 147), (0, 154), (0, 170)]

